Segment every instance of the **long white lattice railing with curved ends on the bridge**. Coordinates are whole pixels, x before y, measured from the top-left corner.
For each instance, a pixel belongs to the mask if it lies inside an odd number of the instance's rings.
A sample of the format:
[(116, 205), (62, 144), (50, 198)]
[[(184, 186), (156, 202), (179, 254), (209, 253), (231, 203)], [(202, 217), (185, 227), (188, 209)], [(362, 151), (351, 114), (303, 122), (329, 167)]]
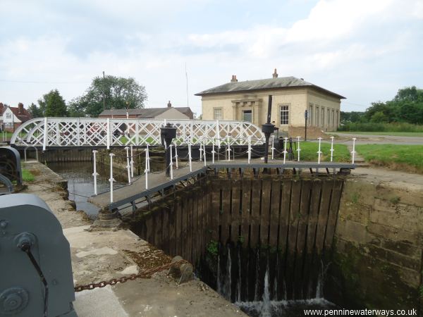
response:
[[(84, 147), (142, 146), (161, 144), (160, 128), (165, 120), (111, 118), (35, 118), (20, 125), (11, 137), (16, 146)], [(263, 144), (264, 135), (257, 125), (242, 121), (166, 120), (177, 129), (176, 144), (213, 143), (220, 147)], [(230, 136), (230, 138), (228, 138)]]

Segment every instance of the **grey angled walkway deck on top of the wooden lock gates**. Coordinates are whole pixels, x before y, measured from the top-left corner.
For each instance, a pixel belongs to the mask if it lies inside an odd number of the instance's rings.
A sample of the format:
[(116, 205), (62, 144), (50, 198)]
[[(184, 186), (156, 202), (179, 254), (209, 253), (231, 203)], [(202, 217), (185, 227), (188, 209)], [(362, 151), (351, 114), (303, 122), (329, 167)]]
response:
[(207, 163), (207, 166), (204, 166), (204, 162), (192, 162), (192, 172), (188, 165), (184, 165), (183, 168), (174, 168), (173, 169), (173, 180), (166, 177), (164, 172), (161, 173), (149, 173), (148, 175), (148, 184), (149, 189), (145, 188), (145, 175), (141, 175), (135, 179), (135, 181), (130, 185), (125, 185), (123, 187), (114, 189), (114, 202), (110, 202), (110, 192), (103, 192), (97, 196), (90, 197), (88, 201), (96, 206), (99, 206), (101, 209), (109, 208), (114, 209), (124, 204), (130, 204), (131, 201), (141, 199), (142, 197), (150, 196), (154, 193), (159, 192), (161, 189), (170, 187), (172, 185), (178, 184), (184, 180), (188, 180), (196, 175), (205, 173), (207, 168), (297, 168), (297, 169), (317, 169), (321, 168), (355, 168), (354, 164), (349, 163), (311, 163), (311, 162), (287, 162), (283, 164), (283, 161), (274, 160), (269, 161), (268, 164), (265, 164), (261, 160), (252, 160), (249, 164), (247, 161), (219, 161), (214, 164)]

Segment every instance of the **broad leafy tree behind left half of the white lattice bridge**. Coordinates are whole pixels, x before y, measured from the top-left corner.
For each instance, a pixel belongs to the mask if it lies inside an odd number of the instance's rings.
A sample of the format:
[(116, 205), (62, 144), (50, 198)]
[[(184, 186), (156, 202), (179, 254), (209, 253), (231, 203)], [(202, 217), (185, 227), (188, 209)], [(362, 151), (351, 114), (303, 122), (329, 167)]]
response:
[(84, 95), (74, 99), (69, 111), (77, 116), (97, 117), (105, 109), (144, 108), (147, 100), (145, 87), (135, 79), (115, 77), (95, 77)]

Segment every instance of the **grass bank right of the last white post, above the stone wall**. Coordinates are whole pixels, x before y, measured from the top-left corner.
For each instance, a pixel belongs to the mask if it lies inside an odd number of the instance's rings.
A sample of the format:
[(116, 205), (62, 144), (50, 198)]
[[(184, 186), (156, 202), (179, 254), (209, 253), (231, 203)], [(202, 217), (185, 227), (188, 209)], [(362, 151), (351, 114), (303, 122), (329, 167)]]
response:
[(423, 145), (360, 144), (355, 149), (368, 163), (423, 174)]

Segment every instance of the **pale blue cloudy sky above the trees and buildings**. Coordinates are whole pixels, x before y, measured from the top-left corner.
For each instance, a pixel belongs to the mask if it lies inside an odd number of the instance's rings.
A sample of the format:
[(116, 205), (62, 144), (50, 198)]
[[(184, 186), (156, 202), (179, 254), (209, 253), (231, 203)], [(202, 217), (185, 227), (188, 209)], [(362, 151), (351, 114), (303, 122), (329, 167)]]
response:
[(195, 93), (274, 68), (345, 96), (343, 111), (423, 88), (423, 0), (0, 0), (0, 14), (11, 106), (71, 101), (103, 71), (144, 85), (146, 107), (197, 114)]

